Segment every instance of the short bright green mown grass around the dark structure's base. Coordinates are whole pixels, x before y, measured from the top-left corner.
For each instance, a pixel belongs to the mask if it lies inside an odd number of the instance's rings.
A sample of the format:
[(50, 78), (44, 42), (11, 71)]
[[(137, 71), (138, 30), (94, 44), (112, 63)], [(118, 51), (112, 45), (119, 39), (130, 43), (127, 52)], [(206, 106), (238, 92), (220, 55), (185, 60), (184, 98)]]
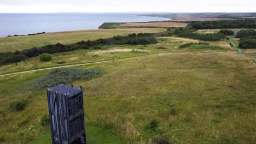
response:
[[(48, 125), (49, 126), (49, 125)], [(119, 144), (121, 142), (119, 136), (97, 127), (86, 127), (86, 143), (90, 144)], [(48, 144), (51, 143), (51, 132), (45, 131), (38, 139), (32, 140), (29, 144)]]

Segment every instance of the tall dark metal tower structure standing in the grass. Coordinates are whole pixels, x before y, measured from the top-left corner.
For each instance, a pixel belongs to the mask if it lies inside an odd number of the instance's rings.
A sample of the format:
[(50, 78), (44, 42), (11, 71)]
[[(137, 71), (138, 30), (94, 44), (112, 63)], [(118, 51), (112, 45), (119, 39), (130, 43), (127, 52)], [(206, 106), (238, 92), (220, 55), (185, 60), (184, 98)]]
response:
[(62, 84), (47, 96), (53, 144), (86, 143), (83, 88)]

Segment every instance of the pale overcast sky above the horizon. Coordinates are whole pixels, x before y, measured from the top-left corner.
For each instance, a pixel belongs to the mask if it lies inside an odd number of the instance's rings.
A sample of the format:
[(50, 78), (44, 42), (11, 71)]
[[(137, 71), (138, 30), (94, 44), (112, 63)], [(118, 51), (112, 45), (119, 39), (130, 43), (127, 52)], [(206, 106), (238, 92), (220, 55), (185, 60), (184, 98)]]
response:
[(0, 13), (256, 12), (255, 0), (0, 0)]

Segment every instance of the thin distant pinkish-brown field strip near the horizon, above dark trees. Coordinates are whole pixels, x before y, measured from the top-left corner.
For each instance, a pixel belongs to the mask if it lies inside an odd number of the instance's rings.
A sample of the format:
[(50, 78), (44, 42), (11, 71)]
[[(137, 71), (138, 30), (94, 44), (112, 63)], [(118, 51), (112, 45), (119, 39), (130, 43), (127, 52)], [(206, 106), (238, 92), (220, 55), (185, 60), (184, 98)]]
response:
[(221, 20), (233, 20), (233, 19), (220, 19), (216, 17), (183, 17), (172, 19), (170, 21), (221, 21)]

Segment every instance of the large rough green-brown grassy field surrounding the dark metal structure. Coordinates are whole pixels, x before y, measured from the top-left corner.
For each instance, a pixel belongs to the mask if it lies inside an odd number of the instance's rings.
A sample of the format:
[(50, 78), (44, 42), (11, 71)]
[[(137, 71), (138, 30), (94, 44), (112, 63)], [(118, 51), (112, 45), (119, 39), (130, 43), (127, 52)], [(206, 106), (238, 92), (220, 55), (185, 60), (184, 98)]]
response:
[[(79, 66), (102, 68), (107, 74), (72, 82), (84, 87), (89, 143), (154, 143), (159, 139), (171, 143), (255, 143), (256, 65), (251, 57), (236, 55), (230, 46), (194, 51), (179, 49), (179, 45), (198, 40), (158, 39), (156, 45), (56, 53), (53, 62), (32, 58), (5, 65), (0, 71), (54, 67), (61, 57), (66, 64), (112, 59)], [(228, 41), (210, 44), (222, 46)], [(111, 51), (120, 49), (124, 51)], [(48, 115), (46, 88), (27, 89), (49, 71), (0, 77), (0, 143), (50, 142), (49, 125), (40, 125), (40, 119)], [(27, 100), (24, 110), (9, 110), (11, 103), (22, 99)]]

